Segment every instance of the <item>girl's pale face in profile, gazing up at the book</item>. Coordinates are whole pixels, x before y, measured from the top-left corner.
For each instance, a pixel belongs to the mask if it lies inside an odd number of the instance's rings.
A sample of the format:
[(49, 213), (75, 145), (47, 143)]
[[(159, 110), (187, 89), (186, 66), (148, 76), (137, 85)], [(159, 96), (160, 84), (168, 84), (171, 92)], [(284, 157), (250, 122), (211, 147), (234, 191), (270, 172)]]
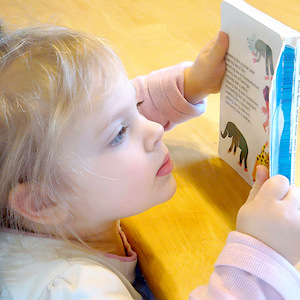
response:
[(80, 201), (72, 207), (77, 222), (97, 230), (169, 200), (176, 182), (164, 130), (139, 113), (130, 81), (122, 79), (104, 104), (93, 101), (86, 108), (66, 139), (73, 159), (67, 175), (79, 187)]

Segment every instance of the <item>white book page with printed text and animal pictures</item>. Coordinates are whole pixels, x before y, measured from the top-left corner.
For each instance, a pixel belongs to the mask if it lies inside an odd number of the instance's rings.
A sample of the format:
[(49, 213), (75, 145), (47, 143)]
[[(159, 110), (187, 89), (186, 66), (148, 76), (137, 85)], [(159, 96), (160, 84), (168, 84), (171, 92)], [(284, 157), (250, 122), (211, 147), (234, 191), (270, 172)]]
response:
[(229, 48), (219, 155), (252, 186), (257, 164), (269, 164), (269, 94), (282, 37), (224, 1), (222, 30), (229, 35)]

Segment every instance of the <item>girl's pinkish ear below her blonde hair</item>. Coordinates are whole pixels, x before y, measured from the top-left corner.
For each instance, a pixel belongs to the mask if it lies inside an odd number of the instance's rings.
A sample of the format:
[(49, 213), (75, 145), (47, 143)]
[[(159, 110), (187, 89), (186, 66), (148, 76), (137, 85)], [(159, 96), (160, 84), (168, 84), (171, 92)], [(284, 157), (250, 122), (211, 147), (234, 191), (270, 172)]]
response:
[[(34, 195), (32, 190), (35, 190)], [(19, 215), (35, 223), (54, 225), (64, 222), (68, 217), (67, 212), (39, 190), (38, 185), (17, 184), (9, 192), (10, 207)]]

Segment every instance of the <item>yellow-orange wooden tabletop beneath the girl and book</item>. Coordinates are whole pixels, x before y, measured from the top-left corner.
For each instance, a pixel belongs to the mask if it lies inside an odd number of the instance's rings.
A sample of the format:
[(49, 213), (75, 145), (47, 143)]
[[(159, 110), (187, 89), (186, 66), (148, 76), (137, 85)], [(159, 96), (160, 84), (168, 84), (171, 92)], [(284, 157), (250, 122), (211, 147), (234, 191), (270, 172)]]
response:
[[(220, 28), (220, 3), (0, 0), (0, 16), (12, 26), (48, 22), (104, 37), (133, 78), (194, 60)], [(248, 3), (300, 31), (300, 1)], [(205, 115), (165, 134), (178, 191), (169, 202), (122, 220), (142, 271), (159, 300), (188, 299), (192, 289), (208, 282), (213, 263), (226, 235), (235, 229), (237, 211), (250, 190), (218, 157), (218, 121), (219, 95), (212, 95)]]

